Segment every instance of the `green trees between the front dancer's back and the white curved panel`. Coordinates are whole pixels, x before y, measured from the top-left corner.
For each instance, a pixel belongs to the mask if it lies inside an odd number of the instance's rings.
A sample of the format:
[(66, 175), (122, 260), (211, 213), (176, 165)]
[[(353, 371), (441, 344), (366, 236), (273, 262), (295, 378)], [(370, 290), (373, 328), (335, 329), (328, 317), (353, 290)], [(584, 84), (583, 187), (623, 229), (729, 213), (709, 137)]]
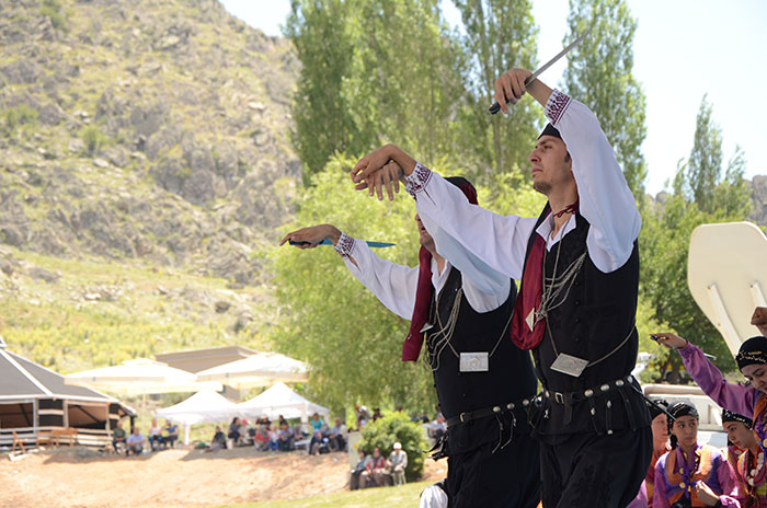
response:
[[(641, 288), (652, 302), (657, 321), (669, 323), (683, 337), (716, 355), (716, 363), (729, 370), (734, 368), (732, 354), (687, 287), (692, 230), (703, 223), (745, 220), (751, 211), (751, 190), (743, 180), (743, 153), (735, 151), (723, 176), (721, 164), (721, 131), (703, 97), (690, 158), (677, 169), (673, 194), (644, 210)], [(672, 355), (662, 370), (675, 374), (679, 368), (678, 356)]]

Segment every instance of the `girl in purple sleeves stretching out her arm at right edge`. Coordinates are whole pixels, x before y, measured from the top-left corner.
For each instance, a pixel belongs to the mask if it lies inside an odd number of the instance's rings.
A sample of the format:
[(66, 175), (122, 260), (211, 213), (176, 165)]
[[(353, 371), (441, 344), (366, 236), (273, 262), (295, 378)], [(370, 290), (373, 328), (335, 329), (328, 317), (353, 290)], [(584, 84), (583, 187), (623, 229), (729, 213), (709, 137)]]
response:
[[(756, 310), (752, 324), (756, 324), (755, 320), (760, 311), (762, 308)], [(767, 326), (759, 326), (759, 331), (767, 333)], [(751, 337), (741, 345), (735, 356), (737, 368), (748, 380), (746, 385), (729, 383), (722, 372), (706, 358), (703, 351), (688, 340), (671, 333), (655, 334), (654, 337), (660, 344), (679, 353), (687, 372), (717, 404), (752, 418), (760, 453), (748, 459), (755, 464), (748, 472), (755, 471), (754, 487), (763, 485), (767, 449), (767, 337)]]

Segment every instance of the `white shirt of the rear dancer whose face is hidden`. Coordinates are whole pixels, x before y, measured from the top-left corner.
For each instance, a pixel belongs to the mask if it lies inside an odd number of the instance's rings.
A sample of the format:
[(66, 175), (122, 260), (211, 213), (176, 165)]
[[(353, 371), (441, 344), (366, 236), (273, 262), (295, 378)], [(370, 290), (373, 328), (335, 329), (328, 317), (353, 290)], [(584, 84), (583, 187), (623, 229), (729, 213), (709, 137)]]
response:
[[(450, 183), (447, 185), (453, 186)], [(458, 188), (456, 187), (456, 189)], [(460, 193), (460, 190), (458, 192)], [(473, 206), (469, 204), (462, 193), (460, 195), (467, 205)], [(461, 273), (467, 302), (474, 311), (490, 312), (501, 307), (508, 298), (512, 286), (510, 278), (479, 261), (477, 256), (457, 244), (454, 239), (444, 234), (433, 222), (431, 222), (431, 228), (436, 235), (444, 236), (442, 242), (444, 245), (450, 245), (454, 262), (451, 264), (446, 261), (445, 268), (439, 273), (437, 262), (432, 259), (432, 286), (435, 288), (435, 295), (442, 291), (447, 281), (449, 268), (455, 266)], [(344, 233), (341, 234), (335, 250), (343, 256), (352, 275), (369, 289), (387, 309), (405, 320), (412, 319), (419, 281), (417, 266), (408, 267), (378, 257), (367, 243), (354, 240)]]

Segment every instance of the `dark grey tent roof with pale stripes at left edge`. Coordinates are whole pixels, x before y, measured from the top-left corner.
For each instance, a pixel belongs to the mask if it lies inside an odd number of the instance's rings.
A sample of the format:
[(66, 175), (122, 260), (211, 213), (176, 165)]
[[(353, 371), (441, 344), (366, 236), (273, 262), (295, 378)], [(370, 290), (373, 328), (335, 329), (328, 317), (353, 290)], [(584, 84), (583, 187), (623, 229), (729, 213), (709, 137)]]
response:
[[(0, 345), (0, 403), (14, 399), (76, 399), (119, 403), (114, 397), (84, 386), (64, 383), (53, 370), (9, 351)], [(133, 413), (133, 411), (127, 411)]]

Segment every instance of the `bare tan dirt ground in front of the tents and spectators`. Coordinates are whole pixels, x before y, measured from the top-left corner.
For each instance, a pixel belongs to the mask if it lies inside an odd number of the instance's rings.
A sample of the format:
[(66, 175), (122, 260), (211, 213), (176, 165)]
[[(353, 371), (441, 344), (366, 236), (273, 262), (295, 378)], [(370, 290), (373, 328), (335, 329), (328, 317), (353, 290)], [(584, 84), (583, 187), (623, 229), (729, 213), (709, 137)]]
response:
[[(272, 455), (237, 448), (213, 453), (175, 449), (141, 457), (92, 457), (78, 450), (61, 447), (14, 461), (1, 454), (0, 507), (224, 505), (348, 488), (345, 453)], [(446, 460), (426, 460), (423, 480), (436, 482), (446, 474)]]

